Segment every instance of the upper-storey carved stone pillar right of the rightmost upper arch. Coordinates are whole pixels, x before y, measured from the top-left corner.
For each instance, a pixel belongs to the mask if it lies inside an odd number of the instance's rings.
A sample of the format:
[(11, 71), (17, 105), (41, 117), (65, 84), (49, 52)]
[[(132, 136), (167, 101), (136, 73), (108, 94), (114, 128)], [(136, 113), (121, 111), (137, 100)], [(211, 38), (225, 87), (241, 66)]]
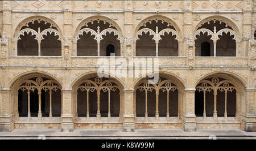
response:
[(237, 56), (247, 56), (248, 42), (251, 37), (251, 1), (243, 2), (243, 32), (242, 32), (242, 49), (241, 52), (238, 51)]

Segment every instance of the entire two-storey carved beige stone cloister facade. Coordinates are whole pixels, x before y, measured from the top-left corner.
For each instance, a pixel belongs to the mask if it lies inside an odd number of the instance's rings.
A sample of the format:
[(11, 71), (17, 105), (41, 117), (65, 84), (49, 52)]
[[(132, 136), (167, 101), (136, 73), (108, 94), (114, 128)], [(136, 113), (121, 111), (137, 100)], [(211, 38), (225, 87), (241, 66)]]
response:
[[(256, 131), (253, 34), (256, 1), (1, 1), (0, 9), (2, 131), (14, 128)], [(209, 43), (209, 55), (202, 57), (203, 41)], [(105, 48), (109, 44), (114, 46), (116, 57), (102, 57), (107, 55)], [(159, 62), (156, 72), (163, 83), (158, 80), (156, 84), (148, 84), (152, 72), (134, 76), (137, 71), (132, 61), (151, 59), (154, 66), (156, 58)], [(119, 60), (129, 64), (125, 71), (131, 68), (133, 72), (99, 78), (100, 59), (105, 63), (115, 62), (106, 75), (121, 67), (123, 62)], [(207, 99), (213, 102), (212, 108), (203, 107), (211, 109), (210, 112), (203, 113), (201, 109), (202, 116), (196, 115), (197, 91), (202, 98), (206, 96), (202, 105), (207, 105)], [(154, 94), (146, 97), (147, 92)], [(209, 93), (212, 97), (208, 97)], [(176, 96), (175, 114), (173, 103), (165, 102), (167, 98), (171, 101), (172, 96)], [(113, 105), (113, 99), (118, 105)], [(147, 115), (144, 107), (140, 112), (142, 117), (138, 117), (137, 112), (142, 109), (137, 106), (143, 106), (147, 99), (148, 110), (155, 115)], [(84, 102), (80, 103), (81, 100)], [(138, 100), (142, 102), (137, 103)], [(38, 110), (35, 115), (33, 107)], [(81, 114), (86, 116), (77, 113), (83, 109), (86, 111)], [(218, 117), (220, 109), (223, 117)], [(229, 116), (232, 110), (234, 114)], [(55, 111), (60, 113), (55, 116)], [(23, 113), (25, 117), (21, 116)]]

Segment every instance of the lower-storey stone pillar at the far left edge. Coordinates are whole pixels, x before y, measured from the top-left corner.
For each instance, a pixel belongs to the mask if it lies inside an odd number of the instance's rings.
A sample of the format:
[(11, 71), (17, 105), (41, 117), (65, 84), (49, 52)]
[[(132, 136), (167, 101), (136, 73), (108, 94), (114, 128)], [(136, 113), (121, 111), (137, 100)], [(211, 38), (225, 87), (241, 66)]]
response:
[(1, 131), (10, 132), (14, 129), (14, 114), (12, 113), (11, 107), (11, 96), (10, 89), (0, 89), (0, 121)]

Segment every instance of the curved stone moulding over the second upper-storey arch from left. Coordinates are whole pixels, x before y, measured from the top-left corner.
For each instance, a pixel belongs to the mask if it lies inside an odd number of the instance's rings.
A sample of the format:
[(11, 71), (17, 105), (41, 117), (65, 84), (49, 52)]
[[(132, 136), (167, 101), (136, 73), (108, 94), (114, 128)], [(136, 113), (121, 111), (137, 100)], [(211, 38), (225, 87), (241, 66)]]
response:
[(75, 28), (73, 38), (74, 39), (76, 38), (77, 34), (79, 33), (80, 29), (85, 25), (85, 23), (89, 23), (92, 20), (98, 20), (98, 19), (105, 20), (106, 22), (112, 24), (115, 28), (117, 28), (120, 38), (123, 39), (123, 35), (122, 35), (123, 32), (120, 26), (113, 19), (110, 19), (107, 16), (102, 16), (102, 15), (89, 16), (88, 18), (85, 18), (82, 21), (80, 21), (79, 25)]

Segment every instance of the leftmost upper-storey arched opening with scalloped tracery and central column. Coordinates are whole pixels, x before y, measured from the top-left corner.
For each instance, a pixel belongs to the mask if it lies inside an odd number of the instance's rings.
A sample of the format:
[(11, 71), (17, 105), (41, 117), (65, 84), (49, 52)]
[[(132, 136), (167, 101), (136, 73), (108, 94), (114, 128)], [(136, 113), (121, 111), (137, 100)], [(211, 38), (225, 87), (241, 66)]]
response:
[(43, 17), (24, 20), (22, 28), (15, 33), (15, 54), (61, 56), (63, 37), (56, 27), (57, 25)]

